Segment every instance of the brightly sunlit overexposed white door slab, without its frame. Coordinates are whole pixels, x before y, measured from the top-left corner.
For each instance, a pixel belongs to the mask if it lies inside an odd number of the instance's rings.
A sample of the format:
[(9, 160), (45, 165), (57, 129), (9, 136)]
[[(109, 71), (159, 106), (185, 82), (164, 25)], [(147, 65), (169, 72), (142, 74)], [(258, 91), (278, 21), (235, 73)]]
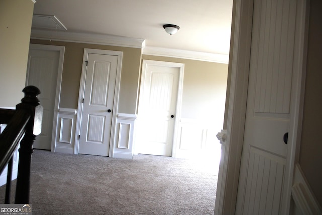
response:
[(180, 68), (146, 64), (142, 73), (139, 153), (171, 156)]

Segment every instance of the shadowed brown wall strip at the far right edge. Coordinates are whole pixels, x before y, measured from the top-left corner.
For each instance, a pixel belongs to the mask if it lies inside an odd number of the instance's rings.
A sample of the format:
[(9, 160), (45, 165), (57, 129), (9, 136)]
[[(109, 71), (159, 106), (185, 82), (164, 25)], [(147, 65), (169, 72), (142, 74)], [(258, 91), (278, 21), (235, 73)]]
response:
[(300, 166), (322, 205), (322, 1), (310, 1)]

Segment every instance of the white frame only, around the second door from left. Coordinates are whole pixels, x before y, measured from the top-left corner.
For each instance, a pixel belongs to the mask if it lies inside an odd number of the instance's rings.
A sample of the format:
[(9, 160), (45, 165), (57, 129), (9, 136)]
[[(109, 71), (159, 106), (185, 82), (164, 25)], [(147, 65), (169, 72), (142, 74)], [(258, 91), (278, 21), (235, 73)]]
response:
[(103, 54), (103, 55), (114, 55), (118, 56), (117, 59), (117, 68), (116, 68), (116, 81), (115, 81), (115, 92), (114, 92), (114, 104), (112, 111), (112, 124), (111, 124), (111, 135), (110, 135), (110, 147), (109, 147), (109, 157), (113, 157), (114, 153), (114, 131), (116, 127), (116, 116), (119, 105), (119, 94), (120, 94), (120, 84), (121, 84), (121, 71), (122, 71), (122, 59), (123, 52), (122, 51), (110, 51), (110, 50), (100, 50), (100, 49), (90, 49), (85, 48), (83, 54), (83, 66), (82, 66), (82, 75), (81, 75), (81, 83), (79, 86), (79, 96), (78, 96), (78, 108), (77, 108), (77, 124), (76, 124), (76, 132), (75, 132), (75, 148), (74, 154), (78, 154), (79, 152), (79, 140), (78, 135), (81, 129), (82, 123), (82, 114), (83, 114), (83, 96), (84, 96), (84, 88), (85, 88), (85, 78), (86, 78), (86, 61), (89, 54)]

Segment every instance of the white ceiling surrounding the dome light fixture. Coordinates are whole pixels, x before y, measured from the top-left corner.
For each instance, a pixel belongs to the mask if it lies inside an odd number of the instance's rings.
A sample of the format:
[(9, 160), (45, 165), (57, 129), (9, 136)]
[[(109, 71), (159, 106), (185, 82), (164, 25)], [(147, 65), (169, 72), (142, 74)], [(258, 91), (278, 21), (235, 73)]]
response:
[[(232, 1), (37, 0), (34, 14), (54, 15), (68, 29), (64, 34), (121, 36), (142, 39), (147, 48), (228, 55)], [(180, 29), (169, 35), (164, 24)], [(54, 29), (48, 38), (60, 31)]]

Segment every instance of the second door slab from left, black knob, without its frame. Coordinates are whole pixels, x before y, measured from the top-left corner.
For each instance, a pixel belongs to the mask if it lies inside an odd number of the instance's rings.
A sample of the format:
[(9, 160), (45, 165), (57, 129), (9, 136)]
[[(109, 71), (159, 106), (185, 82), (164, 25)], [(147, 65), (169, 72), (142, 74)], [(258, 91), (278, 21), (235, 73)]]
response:
[(88, 54), (79, 153), (109, 155), (118, 56)]

